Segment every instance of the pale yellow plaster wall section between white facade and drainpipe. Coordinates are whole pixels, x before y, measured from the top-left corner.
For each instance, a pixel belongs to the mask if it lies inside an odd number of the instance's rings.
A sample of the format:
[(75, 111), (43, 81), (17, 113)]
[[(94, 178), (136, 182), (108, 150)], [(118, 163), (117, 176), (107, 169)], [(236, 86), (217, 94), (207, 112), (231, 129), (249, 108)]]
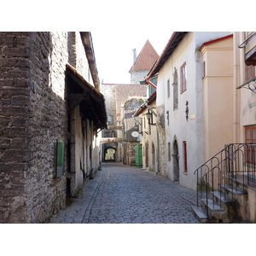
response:
[(232, 143), (233, 40), (225, 38), (201, 49), (206, 62), (204, 116), (206, 160)]

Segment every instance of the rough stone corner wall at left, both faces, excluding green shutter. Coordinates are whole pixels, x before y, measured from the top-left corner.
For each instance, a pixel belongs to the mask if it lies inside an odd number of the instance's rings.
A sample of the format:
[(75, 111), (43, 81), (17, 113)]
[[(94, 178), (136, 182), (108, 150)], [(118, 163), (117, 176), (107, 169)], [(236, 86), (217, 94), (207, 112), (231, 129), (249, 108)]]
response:
[(67, 142), (67, 48), (66, 32), (0, 34), (2, 223), (44, 222), (66, 205), (54, 143)]

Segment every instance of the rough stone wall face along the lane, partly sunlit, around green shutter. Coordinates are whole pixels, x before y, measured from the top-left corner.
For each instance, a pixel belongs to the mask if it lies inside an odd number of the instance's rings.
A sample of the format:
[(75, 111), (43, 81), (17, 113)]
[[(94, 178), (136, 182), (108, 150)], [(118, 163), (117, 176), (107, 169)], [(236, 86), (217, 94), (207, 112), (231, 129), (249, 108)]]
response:
[[(32, 32), (26, 207), (28, 223), (44, 222), (66, 206), (66, 174), (55, 178), (54, 143), (67, 145), (67, 32)], [(65, 163), (67, 168), (67, 162)]]

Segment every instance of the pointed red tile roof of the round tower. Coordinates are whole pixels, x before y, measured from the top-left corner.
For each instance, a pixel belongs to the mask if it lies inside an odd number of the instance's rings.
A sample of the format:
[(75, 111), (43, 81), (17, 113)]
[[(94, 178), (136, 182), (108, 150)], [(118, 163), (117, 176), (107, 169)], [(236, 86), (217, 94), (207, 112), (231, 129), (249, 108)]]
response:
[(140, 54), (137, 56), (137, 60), (135, 61), (133, 67), (131, 67), (130, 73), (137, 70), (150, 70), (158, 58), (159, 55), (153, 48), (152, 44), (150, 44), (150, 42), (147, 40)]

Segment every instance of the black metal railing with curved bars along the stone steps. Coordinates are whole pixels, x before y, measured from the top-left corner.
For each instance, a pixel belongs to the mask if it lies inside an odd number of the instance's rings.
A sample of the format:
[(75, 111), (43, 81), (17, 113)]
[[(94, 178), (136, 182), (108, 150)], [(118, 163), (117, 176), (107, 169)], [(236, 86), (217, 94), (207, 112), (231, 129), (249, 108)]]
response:
[[(256, 183), (256, 144), (226, 144), (224, 149), (215, 154), (210, 160), (197, 168), (197, 206), (200, 199), (205, 197), (207, 206), (211, 192), (219, 192), (219, 201), (226, 199), (226, 189), (229, 187), (233, 200), (233, 192), (244, 191), (245, 185)], [(239, 186), (239, 187), (238, 187)], [(217, 207), (212, 201), (213, 209)], [(209, 218), (207, 207), (207, 218)]]

